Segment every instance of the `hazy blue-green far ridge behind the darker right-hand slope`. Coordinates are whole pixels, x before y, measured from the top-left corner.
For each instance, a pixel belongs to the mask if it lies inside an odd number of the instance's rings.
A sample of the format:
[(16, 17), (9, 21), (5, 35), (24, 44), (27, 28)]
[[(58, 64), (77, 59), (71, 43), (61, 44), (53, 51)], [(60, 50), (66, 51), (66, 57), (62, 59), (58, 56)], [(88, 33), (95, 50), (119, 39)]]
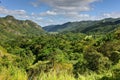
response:
[[(95, 21), (96, 23), (97, 21)], [(48, 32), (80, 32), (87, 28), (88, 26), (92, 26), (93, 21), (81, 21), (81, 22), (68, 22), (62, 25), (52, 25), (43, 27), (44, 30)]]

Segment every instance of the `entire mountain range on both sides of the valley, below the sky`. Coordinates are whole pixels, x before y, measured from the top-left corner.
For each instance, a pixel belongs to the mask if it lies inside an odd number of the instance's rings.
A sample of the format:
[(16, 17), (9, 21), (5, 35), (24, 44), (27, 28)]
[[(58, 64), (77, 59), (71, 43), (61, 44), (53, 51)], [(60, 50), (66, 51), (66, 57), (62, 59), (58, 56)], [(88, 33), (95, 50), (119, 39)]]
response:
[(0, 18), (0, 40), (18, 37), (40, 36), (47, 32), (59, 33), (109, 33), (120, 27), (120, 18), (106, 18), (96, 21), (68, 22), (62, 25), (41, 27), (31, 20), (18, 20), (13, 16)]

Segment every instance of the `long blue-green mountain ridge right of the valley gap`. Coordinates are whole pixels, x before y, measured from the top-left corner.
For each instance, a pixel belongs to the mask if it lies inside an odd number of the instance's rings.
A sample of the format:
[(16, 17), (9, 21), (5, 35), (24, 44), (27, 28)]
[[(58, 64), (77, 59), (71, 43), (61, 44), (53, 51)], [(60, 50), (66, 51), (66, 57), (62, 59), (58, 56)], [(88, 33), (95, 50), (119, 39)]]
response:
[(68, 22), (62, 25), (43, 27), (47, 32), (108, 33), (120, 27), (120, 18), (106, 18), (96, 21)]

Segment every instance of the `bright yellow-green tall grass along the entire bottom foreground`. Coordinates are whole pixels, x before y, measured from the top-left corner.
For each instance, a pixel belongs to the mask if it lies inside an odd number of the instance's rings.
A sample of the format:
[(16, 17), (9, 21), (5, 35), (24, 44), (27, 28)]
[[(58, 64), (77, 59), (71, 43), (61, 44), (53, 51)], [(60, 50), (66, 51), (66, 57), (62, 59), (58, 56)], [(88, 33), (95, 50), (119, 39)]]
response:
[(102, 77), (111, 77), (112, 73), (107, 72), (103, 74), (91, 73), (88, 75), (79, 75), (75, 78), (73, 74), (67, 72), (57, 73), (56, 71), (41, 72), (38, 75), (30, 76), (28, 78), (27, 73), (24, 69), (17, 67), (2, 67), (0, 70), (0, 80), (104, 80)]

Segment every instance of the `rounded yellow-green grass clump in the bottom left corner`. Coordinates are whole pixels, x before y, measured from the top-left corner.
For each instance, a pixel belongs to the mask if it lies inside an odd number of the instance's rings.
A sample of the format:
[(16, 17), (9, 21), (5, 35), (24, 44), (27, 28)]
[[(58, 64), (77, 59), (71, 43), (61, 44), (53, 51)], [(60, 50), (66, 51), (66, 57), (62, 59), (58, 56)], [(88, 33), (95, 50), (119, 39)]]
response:
[(27, 74), (24, 70), (16, 67), (1, 67), (0, 80), (27, 80)]

